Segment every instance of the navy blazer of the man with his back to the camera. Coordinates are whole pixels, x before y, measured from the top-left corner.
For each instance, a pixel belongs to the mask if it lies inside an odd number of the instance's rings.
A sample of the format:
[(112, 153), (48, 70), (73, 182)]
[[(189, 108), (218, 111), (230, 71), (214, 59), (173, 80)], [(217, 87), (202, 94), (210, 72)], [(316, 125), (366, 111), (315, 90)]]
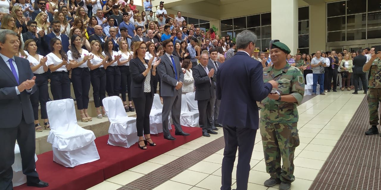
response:
[(246, 52), (237, 52), (217, 71), (216, 97), (221, 100), (218, 122), (223, 126), (258, 129), (256, 101), (267, 97), (270, 83), (263, 83), (262, 63)]

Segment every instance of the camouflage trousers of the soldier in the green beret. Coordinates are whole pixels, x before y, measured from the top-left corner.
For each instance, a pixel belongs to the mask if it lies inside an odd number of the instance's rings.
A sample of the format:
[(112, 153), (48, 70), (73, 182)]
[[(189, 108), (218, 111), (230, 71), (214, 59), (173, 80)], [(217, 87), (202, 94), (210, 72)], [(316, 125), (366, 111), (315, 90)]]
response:
[[(293, 182), (294, 152), (299, 146), (298, 123), (272, 123), (260, 121), (266, 172), (283, 182)], [(283, 166), (281, 167), (280, 160)]]

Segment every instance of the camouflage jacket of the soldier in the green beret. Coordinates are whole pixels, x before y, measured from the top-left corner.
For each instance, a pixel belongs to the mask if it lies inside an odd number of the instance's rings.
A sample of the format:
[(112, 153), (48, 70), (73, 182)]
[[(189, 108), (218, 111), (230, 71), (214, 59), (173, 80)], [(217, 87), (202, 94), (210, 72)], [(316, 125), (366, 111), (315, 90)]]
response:
[(277, 81), (280, 95), (292, 95), (297, 102), (289, 103), (285, 101), (271, 100), (266, 97), (261, 101), (261, 119), (274, 123), (295, 123), (298, 122), (298, 109), (304, 95), (304, 78), (301, 71), (286, 64), (281, 74), (274, 76), (273, 67), (263, 68), (263, 82), (271, 80)]

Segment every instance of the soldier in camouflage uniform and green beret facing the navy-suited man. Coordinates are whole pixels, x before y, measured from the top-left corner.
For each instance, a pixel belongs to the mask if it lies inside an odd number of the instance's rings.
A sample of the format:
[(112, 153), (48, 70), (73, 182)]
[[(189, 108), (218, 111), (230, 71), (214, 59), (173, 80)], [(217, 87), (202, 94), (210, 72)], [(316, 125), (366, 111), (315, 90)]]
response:
[[(279, 83), (277, 91), (261, 101), (261, 130), (266, 171), (270, 179), (266, 187), (280, 184), (280, 190), (291, 188), (295, 180), (294, 152), (299, 146), (298, 110), (304, 95), (304, 78), (301, 71), (288, 65), (286, 61), (290, 49), (281, 42), (271, 45), (271, 67), (263, 69), (263, 82), (275, 80)], [(282, 162), (283, 161), (283, 167)]]

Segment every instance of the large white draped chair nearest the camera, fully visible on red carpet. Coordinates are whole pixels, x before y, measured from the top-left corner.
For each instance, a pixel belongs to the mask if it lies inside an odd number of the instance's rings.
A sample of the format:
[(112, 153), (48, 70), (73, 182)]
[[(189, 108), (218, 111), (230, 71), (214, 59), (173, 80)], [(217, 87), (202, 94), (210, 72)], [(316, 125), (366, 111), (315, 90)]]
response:
[(99, 160), (94, 132), (77, 124), (72, 99), (48, 101), (46, 109), (51, 128), (48, 142), (52, 144), (53, 161), (65, 167), (74, 167)]

